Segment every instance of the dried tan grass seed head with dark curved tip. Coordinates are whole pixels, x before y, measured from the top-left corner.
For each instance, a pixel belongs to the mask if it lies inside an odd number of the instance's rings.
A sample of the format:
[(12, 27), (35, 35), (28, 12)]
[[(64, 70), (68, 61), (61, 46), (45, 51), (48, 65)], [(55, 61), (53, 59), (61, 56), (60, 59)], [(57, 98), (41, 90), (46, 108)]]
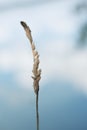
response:
[(39, 69), (39, 63), (40, 63), (39, 54), (38, 54), (38, 51), (36, 50), (35, 44), (33, 42), (31, 30), (30, 30), (29, 26), (27, 26), (27, 24), (23, 21), (21, 21), (21, 25), (23, 26), (23, 28), (26, 32), (26, 36), (29, 39), (30, 44), (31, 44), (31, 49), (32, 49), (32, 53), (33, 53), (33, 61), (34, 61), (33, 70), (32, 70), (32, 72), (33, 72), (32, 79), (34, 80), (34, 82), (33, 82), (34, 91), (37, 94), (39, 91), (39, 80), (41, 79), (41, 69)]

